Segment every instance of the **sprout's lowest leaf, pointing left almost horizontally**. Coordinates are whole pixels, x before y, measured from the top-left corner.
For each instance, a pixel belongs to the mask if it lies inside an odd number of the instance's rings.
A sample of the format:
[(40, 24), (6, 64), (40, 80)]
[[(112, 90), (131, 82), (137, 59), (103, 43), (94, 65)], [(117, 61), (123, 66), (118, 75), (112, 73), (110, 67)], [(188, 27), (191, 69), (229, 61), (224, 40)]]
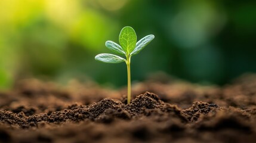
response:
[(126, 61), (124, 58), (113, 54), (98, 54), (95, 56), (95, 60), (101, 61), (103, 63), (121, 63)]

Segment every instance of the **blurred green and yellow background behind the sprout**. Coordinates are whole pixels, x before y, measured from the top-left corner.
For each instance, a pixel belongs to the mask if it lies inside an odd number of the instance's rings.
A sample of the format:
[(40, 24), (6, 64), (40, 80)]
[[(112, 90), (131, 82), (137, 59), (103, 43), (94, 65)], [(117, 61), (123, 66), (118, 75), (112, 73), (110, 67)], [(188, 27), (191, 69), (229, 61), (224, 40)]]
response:
[(1, 0), (0, 87), (27, 77), (126, 85), (124, 63), (94, 60), (124, 26), (155, 35), (132, 57), (134, 81), (164, 71), (223, 84), (256, 71), (255, 1)]

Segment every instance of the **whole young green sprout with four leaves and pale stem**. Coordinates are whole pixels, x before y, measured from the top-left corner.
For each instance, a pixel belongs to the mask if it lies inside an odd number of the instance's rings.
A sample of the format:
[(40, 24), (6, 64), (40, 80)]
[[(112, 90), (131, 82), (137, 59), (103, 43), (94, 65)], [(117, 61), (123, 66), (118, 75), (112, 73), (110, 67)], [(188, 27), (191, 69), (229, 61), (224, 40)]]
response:
[(150, 43), (155, 38), (154, 35), (147, 35), (137, 42), (137, 35), (132, 29), (132, 27), (125, 26), (119, 35), (119, 43), (113, 41), (107, 41), (105, 43), (106, 47), (111, 51), (116, 52), (116, 54), (125, 55), (126, 60), (118, 55), (113, 54), (98, 54), (95, 56), (95, 60), (104, 63), (122, 63), (125, 61), (127, 64), (127, 103), (131, 102), (131, 57), (132, 55), (138, 54), (148, 43)]

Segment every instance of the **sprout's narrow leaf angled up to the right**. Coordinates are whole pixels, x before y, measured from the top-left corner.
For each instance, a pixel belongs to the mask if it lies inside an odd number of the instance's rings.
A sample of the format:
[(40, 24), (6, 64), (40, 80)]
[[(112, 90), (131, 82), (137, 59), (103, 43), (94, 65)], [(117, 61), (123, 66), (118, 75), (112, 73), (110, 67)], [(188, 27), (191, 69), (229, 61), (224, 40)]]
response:
[(136, 46), (134, 48), (134, 51), (131, 52), (131, 55), (138, 54), (147, 44), (149, 44), (153, 39), (155, 38), (154, 35), (147, 35), (144, 38), (140, 39), (136, 43)]

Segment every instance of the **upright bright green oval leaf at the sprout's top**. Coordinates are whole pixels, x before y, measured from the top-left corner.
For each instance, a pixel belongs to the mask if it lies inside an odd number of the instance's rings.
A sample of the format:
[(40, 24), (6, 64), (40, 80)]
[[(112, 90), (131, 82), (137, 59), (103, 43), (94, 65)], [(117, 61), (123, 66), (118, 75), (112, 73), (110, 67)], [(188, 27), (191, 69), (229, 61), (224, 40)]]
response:
[(132, 27), (125, 26), (120, 32), (119, 43), (127, 55), (134, 50), (136, 42), (137, 36), (134, 29), (132, 29)]

